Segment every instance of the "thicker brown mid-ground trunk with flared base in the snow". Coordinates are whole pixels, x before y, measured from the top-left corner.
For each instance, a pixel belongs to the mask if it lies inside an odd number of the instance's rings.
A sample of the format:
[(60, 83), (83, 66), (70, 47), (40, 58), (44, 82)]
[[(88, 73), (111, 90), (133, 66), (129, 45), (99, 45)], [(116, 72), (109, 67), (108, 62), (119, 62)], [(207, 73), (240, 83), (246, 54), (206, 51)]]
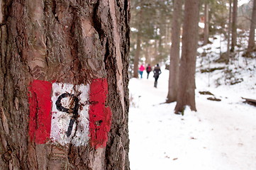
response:
[(179, 67), (179, 90), (175, 113), (183, 112), (185, 106), (196, 111), (195, 73), (198, 43), (199, 1), (186, 0), (182, 35), (182, 59)]

